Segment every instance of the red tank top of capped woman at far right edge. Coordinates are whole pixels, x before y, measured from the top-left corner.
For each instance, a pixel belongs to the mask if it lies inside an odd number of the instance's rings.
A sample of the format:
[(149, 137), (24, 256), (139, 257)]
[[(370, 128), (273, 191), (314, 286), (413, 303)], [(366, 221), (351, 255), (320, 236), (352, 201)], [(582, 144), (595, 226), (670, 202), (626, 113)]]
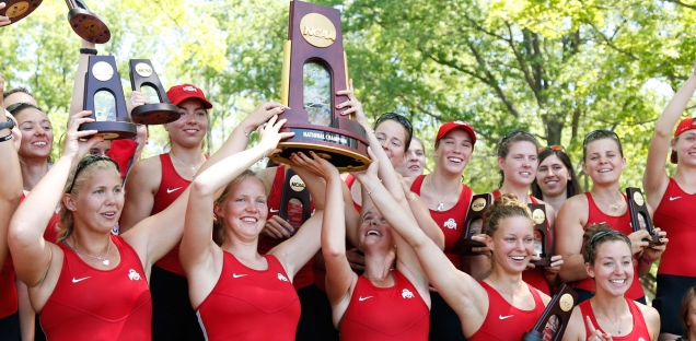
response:
[(653, 215), (654, 226), (666, 231), (670, 238), (669, 247), (662, 252), (659, 274), (696, 277), (696, 249), (692, 245), (692, 240), (696, 240), (694, 208), (696, 193), (685, 192), (674, 178), (670, 178)]

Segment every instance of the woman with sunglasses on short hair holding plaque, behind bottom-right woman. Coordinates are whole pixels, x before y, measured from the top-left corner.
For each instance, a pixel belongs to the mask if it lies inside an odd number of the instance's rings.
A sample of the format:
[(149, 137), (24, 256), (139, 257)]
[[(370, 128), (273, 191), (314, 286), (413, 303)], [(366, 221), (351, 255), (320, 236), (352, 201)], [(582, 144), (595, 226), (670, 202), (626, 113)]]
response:
[[(580, 302), (592, 295), (593, 287), (592, 281), (588, 280), (580, 254), (587, 226), (604, 222), (628, 235), (636, 258), (636, 277), (647, 273), (652, 262), (664, 251), (664, 245), (649, 246), (642, 240), (648, 237), (648, 232), (634, 233), (630, 227), (627, 201), (618, 187), (622, 170), (626, 167), (626, 158), (616, 133), (610, 130), (592, 131), (585, 136), (582, 145), (582, 169), (592, 178), (592, 189), (564, 203), (558, 213), (556, 230), (556, 252), (565, 257), (559, 275), (564, 282), (576, 282), (575, 287)], [(664, 237), (664, 232), (659, 233)], [(634, 279), (633, 285), (626, 294), (627, 297), (641, 299), (645, 294), (637, 278)]]

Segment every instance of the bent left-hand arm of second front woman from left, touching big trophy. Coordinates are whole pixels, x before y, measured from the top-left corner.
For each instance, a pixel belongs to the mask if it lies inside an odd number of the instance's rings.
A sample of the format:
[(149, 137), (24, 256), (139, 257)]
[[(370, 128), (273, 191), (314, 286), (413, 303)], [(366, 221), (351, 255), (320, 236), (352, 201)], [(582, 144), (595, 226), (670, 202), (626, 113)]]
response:
[[(209, 275), (214, 252), (220, 252), (220, 247), (210, 238), (216, 192), (258, 160), (275, 151), (280, 138), (290, 136), (290, 133), (278, 133), (283, 122), (285, 120), (276, 122), (276, 117), (271, 118), (262, 132), (262, 140), (256, 146), (211, 165), (196, 176), (192, 183), (188, 205), (185, 209), (184, 236), (179, 249), (179, 260), (188, 278)], [(209, 284), (214, 285), (214, 281)], [(210, 290), (212, 287), (205, 292), (210, 292)]]

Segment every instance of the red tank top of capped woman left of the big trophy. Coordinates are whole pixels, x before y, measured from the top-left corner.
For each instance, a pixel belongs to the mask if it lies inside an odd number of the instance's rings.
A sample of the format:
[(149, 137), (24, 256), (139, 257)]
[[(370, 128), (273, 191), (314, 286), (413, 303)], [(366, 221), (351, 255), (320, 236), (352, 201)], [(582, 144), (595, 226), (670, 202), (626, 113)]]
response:
[[(162, 163), (162, 179), (160, 180), (160, 188), (154, 193), (154, 203), (150, 215), (158, 214), (169, 208), (190, 185), (189, 180), (176, 173), (170, 154), (160, 154), (160, 162)], [(154, 264), (178, 275), (186, 275), (182, 263), (178, 261), (178, 245)]]

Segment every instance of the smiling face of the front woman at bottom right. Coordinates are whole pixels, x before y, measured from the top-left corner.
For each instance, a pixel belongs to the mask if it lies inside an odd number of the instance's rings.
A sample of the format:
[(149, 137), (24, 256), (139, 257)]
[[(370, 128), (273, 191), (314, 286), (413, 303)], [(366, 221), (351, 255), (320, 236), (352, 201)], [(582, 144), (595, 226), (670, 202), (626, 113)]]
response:
[(634, 281), (630, 247), (624, 240), (604, 242), (598, 247), (594, 264), (585, 263), (588, 275), (594, 278), (595, 290), (620, 296)]

